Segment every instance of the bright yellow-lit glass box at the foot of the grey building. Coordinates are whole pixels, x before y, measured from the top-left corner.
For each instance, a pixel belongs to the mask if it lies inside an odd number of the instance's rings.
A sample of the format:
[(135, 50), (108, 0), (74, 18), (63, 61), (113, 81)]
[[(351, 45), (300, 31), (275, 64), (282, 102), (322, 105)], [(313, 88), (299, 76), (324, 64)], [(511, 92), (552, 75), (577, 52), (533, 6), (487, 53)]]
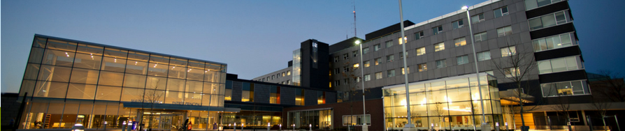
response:
[[(408, 86), (410, 105), (406, 105), (405, 86), (387, 86), (384, 92), (385, 127), (401, 130), (407, 120), (410, 106), (412, 123), (419, 130), (473, 130), (482, 123), (480, 88), (475, 75), (447, 77)], [(480, 87), (484, 113), (489, 126), (502, 123), (497, 81), (491, 75), (480, 73)]]

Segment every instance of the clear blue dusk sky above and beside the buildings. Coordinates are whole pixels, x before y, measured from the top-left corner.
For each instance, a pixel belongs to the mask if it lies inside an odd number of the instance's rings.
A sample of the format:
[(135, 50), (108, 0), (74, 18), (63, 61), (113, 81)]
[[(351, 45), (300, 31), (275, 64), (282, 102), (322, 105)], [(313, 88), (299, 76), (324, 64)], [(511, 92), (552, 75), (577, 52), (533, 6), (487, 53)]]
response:
[[(485, 0), (403, 1), (414, 23)], [(398, 1), (355, 1), (357, 36), (396, 24)], [(569, 1), (587, 72), (625, 75), (625, 1)], [(1, 1), (1, 89), (17, 93), (34, 34), (228, 64), (240, 79), (287, 68), (308, 39), (354, 36), (354, 1)]]

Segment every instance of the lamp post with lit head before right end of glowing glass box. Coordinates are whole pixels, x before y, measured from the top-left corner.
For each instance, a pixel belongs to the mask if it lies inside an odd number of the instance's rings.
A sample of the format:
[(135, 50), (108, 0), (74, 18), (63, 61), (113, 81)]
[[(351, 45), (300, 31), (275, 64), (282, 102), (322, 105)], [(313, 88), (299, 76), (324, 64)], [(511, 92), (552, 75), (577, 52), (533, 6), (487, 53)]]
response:
[[(482, 130), (490, 130), (486, 125), (486, 115), (484, 114), (484, 99), (482, 99), (482, 84), (480, 84), (480, 68), (477, 67), (477, 54), (475, 53), (475, 43), (473, 41), (473, 30), (471, 29), (471, 15), (468, 12), (468, 6), (462, 6), (466, 10), (467, 23), (469, 25), (469, 35), (471, 37), (471, 47), (473, 47), (473, 61), (475, 62), (475, 77), (477, 77), (477, 91), (480, 93), (480, 105), (482, 107)], [(474, 120), (475, 121), (475, 120)]]

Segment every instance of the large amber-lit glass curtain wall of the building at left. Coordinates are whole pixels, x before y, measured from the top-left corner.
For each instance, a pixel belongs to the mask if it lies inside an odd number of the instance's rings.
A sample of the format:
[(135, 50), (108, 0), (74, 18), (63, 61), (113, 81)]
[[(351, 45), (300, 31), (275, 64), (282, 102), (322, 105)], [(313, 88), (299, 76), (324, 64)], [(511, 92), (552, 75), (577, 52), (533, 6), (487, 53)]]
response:
[(31, 101), (20, 129), (119, 128), (138, 119), (123, 102), (223, 107), (225, 75), (220, 63), (36, 36), (20, 88)]

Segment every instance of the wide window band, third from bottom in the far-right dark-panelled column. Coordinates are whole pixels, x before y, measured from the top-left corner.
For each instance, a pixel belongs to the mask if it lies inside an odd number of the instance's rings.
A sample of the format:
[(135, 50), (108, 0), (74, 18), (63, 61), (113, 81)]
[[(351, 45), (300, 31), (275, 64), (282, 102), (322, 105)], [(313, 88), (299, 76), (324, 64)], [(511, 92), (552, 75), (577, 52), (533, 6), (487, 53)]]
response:
[(572, 46), (573, 43), (571, 43), (570, 34), (565, 33), (558, 36), (550, 36), (547, 38), (532, 40), (532, 45), (534, 47), (534, 52), (540, 52), (547, 49), (569, 47)]

